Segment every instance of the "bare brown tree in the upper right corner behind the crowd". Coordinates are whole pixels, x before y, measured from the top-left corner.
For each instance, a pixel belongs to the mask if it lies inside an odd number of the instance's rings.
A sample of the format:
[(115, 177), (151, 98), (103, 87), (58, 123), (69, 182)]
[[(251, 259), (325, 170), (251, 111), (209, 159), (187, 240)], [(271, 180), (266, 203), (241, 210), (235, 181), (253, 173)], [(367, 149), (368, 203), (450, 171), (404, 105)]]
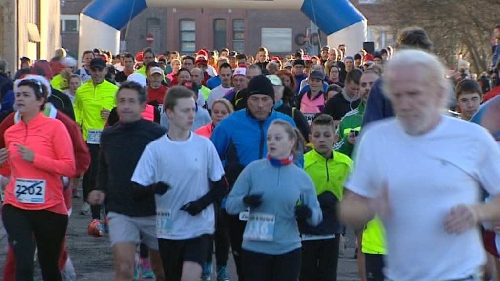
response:
[(500, 0), (383, 0), (390, 25), (425, 29), (434, 49), (448, 66), (456, 68), (458, 54), (476, 73), (488, 70), (491, 36)]

